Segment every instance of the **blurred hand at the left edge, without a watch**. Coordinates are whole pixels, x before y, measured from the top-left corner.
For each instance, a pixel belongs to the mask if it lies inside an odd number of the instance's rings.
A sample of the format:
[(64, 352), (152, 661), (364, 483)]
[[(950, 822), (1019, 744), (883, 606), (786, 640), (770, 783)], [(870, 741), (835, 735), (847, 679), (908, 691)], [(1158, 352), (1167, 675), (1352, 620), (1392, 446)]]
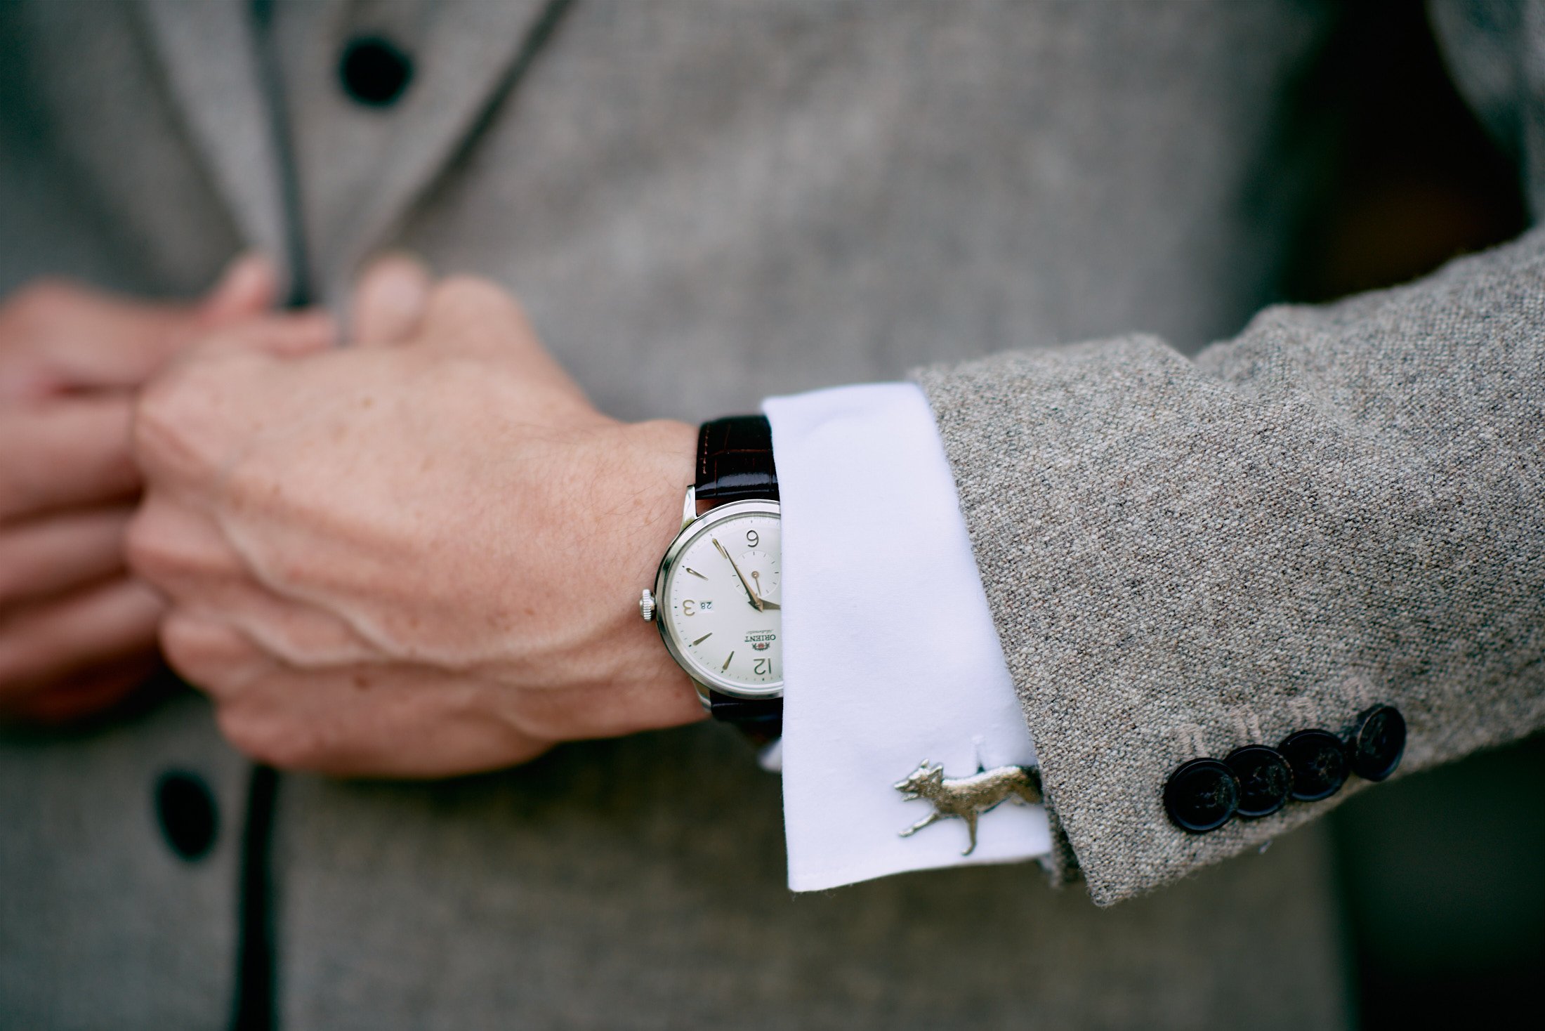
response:
[(0, 305), (0, 717), (85, 716), (154, 669), (161, 601), (124, 564), (133, 391), (275, 291), (272, 266), (249, 258), (199, 305), (66, 283)]

